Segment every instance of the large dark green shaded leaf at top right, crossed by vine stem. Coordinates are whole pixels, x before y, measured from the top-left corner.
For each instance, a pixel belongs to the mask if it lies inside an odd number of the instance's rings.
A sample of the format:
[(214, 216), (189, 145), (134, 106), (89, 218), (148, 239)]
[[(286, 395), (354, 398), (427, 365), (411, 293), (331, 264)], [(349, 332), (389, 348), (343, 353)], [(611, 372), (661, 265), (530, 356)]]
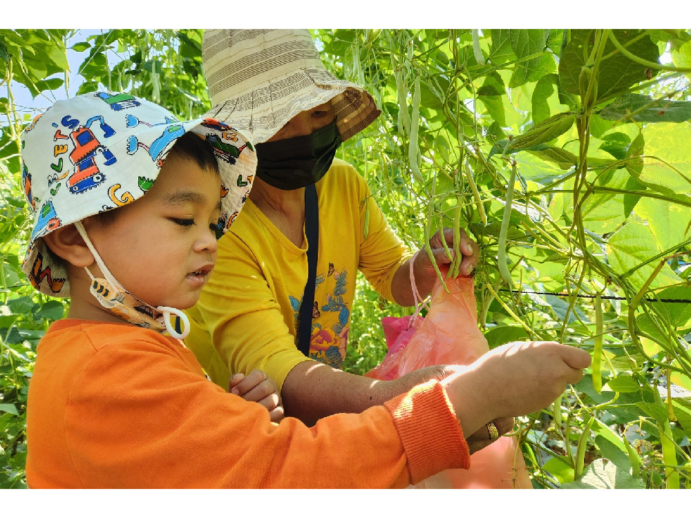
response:
[[(559, 82), (567, 93), (580, 95), (579, 78), (581, 69), (587, 65), (586, 59), (594, 46), (594, 29), (571, 30), (571, 41), (567, 44), (559, 60)], [(659, 50), (643, 30), (613, 29), (616, 39), (634, 55), (659, 62)], [(657, 70), (650, 70), (618, 52), (611, 40), (607, 40), (603, 56), (598, 67), (598, 99), (611, 93), (625, 90), (640, 81), (650, 79), (646, 75), (655, 75)]]

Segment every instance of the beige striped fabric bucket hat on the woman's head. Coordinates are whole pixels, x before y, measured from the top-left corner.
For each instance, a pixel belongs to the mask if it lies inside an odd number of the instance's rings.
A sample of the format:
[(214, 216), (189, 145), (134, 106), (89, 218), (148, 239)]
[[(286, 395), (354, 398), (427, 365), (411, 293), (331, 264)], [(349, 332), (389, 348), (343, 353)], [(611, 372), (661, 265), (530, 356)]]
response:
[(308, 30), (207, 29), (202, 60), (213, 106), (205, 117), (231, 121), (255, 143), (328, 101), (343, 141), (381, 113), (369, 93), (324, 68)]

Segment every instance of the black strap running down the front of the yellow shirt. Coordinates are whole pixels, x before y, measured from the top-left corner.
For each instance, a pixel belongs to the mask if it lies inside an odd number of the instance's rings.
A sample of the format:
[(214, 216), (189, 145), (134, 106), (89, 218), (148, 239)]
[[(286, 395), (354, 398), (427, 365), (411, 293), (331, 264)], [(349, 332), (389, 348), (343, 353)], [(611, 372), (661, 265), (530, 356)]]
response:
[(319, 250), (319, 205), (314, 184), (305, 187), (305, 235), (307, 236), (307, 284), (300, 305), (298, 349), (310, 356), (312, 337), (312, 309), (314, 307), (314, 282), (316, 279), (316, 258)]

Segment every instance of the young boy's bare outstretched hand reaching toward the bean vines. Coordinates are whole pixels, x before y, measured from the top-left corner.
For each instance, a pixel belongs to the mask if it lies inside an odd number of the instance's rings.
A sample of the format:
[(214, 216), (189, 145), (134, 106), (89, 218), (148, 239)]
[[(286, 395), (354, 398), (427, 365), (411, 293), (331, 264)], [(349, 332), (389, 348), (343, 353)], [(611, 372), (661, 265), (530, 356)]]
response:
[(556, 342), (513, 342), (442, 381), (466, 437), (489, 421), (547, 407), (583, 378), (590, 354)]

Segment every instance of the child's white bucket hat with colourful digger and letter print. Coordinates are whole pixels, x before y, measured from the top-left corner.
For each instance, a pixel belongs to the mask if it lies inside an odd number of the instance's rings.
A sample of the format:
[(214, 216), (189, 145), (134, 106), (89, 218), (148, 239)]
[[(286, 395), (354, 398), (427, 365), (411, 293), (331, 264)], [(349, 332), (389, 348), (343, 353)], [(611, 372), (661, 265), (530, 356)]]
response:
[(210, 118), (179, 122), (145, 99), (96, 92), (56, 102), (24, 129), (21, 181), (34, 224), (21, 269), (36, 289), (70, 295), (66, 268), (48, 252), (43, 236), (141, 198), (188, 131), (214, 149), (221, 177), (219, 228), (226, 231), (247, 199), (257, 163), (247, 137), (227, 124)]

